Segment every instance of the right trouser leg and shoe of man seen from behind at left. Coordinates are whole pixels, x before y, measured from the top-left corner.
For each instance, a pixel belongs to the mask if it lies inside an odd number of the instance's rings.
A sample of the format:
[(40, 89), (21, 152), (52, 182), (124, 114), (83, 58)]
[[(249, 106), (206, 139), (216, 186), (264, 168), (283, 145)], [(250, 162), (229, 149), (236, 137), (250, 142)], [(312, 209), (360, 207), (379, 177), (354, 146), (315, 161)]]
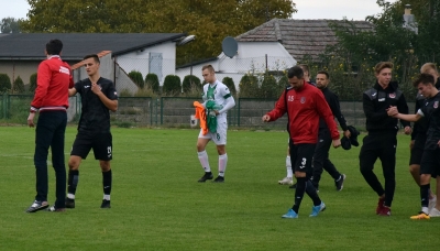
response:
[(66, 207), (66, 165), (64, 160), (64, 139), (67, 124), (67, 113), (64, 111), (56, 112), (57, 127), (51, 143), (52, 164), (55, 170), (56, 181), (56, 200), (50, 211), (64, 211)]

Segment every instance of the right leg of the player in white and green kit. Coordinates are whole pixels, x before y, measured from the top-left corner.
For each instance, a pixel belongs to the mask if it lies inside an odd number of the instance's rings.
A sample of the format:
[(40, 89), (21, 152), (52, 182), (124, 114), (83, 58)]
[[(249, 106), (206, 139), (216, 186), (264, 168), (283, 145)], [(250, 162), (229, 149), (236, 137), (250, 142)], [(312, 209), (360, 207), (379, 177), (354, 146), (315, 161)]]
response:
[(227, 137), (228, 137), (228, 124), (227, 122), (221, 122), (217, 124), (217, 132), (213, 133), (212, 142), (217, 145), (217, 153), (219, 154), (219, 176), (217, 176), (213, 182), (223, 183), (224, 172), (228, 165), (228, 154), (227, 154)]

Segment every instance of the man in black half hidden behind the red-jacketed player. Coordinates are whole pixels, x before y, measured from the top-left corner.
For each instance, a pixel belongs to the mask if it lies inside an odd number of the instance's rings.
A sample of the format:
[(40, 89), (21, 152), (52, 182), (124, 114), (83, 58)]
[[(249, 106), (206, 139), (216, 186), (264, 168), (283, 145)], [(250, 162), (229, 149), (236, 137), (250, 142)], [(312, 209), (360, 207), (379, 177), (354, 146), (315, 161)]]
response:
[[(324, 70), (320, 70), (317, 74), (316, 80), (317, 87), (322, 91), (327, 103), (329, 103), (331, 112), (339, 121), (339, 124), (344, 132), (344, 137), (350, 138), (351, 133), (349, 131), (349, 128), (346, 127), (345, 118), (341, 112), (339, 98), (328, 88), (330, 83), (329, 74)], [(329, 160), (330, 145), (330, 131), (326, 124), (326, 121), (321, 118), (319, 120), (318, 144), (315, 149), (314, 155), (314, 176), (311, 183), (314, 184), (315, 188), (319, 189), (319, 181), (321, 179), (322, 171), (326, 170), (334, 179), (334, 186), (337, 187), (337, 190), (341, 190), (343, 188), (345, 174), (341, 174), (333, 165), (333, 163), (331, 163), (331, 161)]]

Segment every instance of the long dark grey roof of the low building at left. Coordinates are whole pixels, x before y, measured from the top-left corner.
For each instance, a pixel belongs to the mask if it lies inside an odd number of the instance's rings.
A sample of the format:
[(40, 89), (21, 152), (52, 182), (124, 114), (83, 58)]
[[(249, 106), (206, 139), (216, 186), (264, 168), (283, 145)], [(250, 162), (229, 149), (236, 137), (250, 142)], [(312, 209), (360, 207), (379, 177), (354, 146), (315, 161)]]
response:
[(63, 59), (82, 59), (85, 55), (111, 51), (120, 55), (164, 42), (177, 42), (185, 33), (11, 33), (0, 36), (0, 59), (42, 59), (45, 44), (61, 40)]

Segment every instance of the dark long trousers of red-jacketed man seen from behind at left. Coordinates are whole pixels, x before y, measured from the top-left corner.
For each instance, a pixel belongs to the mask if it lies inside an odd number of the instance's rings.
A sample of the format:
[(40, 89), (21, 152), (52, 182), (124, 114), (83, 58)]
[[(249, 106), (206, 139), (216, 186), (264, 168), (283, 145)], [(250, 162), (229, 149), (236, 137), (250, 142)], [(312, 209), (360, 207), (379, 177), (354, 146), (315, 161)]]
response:
[(66, 166), (64, 162), (64, 134), (67, 124), (66, 111), (44, 111), (40, 113), (35, 129), (35, 174), (36, 200), (47, 201), (48, 177), (47, 155), (52, 151), (52, 164), (56, 178), (55, 207), (64, 208), (66, 198)]

